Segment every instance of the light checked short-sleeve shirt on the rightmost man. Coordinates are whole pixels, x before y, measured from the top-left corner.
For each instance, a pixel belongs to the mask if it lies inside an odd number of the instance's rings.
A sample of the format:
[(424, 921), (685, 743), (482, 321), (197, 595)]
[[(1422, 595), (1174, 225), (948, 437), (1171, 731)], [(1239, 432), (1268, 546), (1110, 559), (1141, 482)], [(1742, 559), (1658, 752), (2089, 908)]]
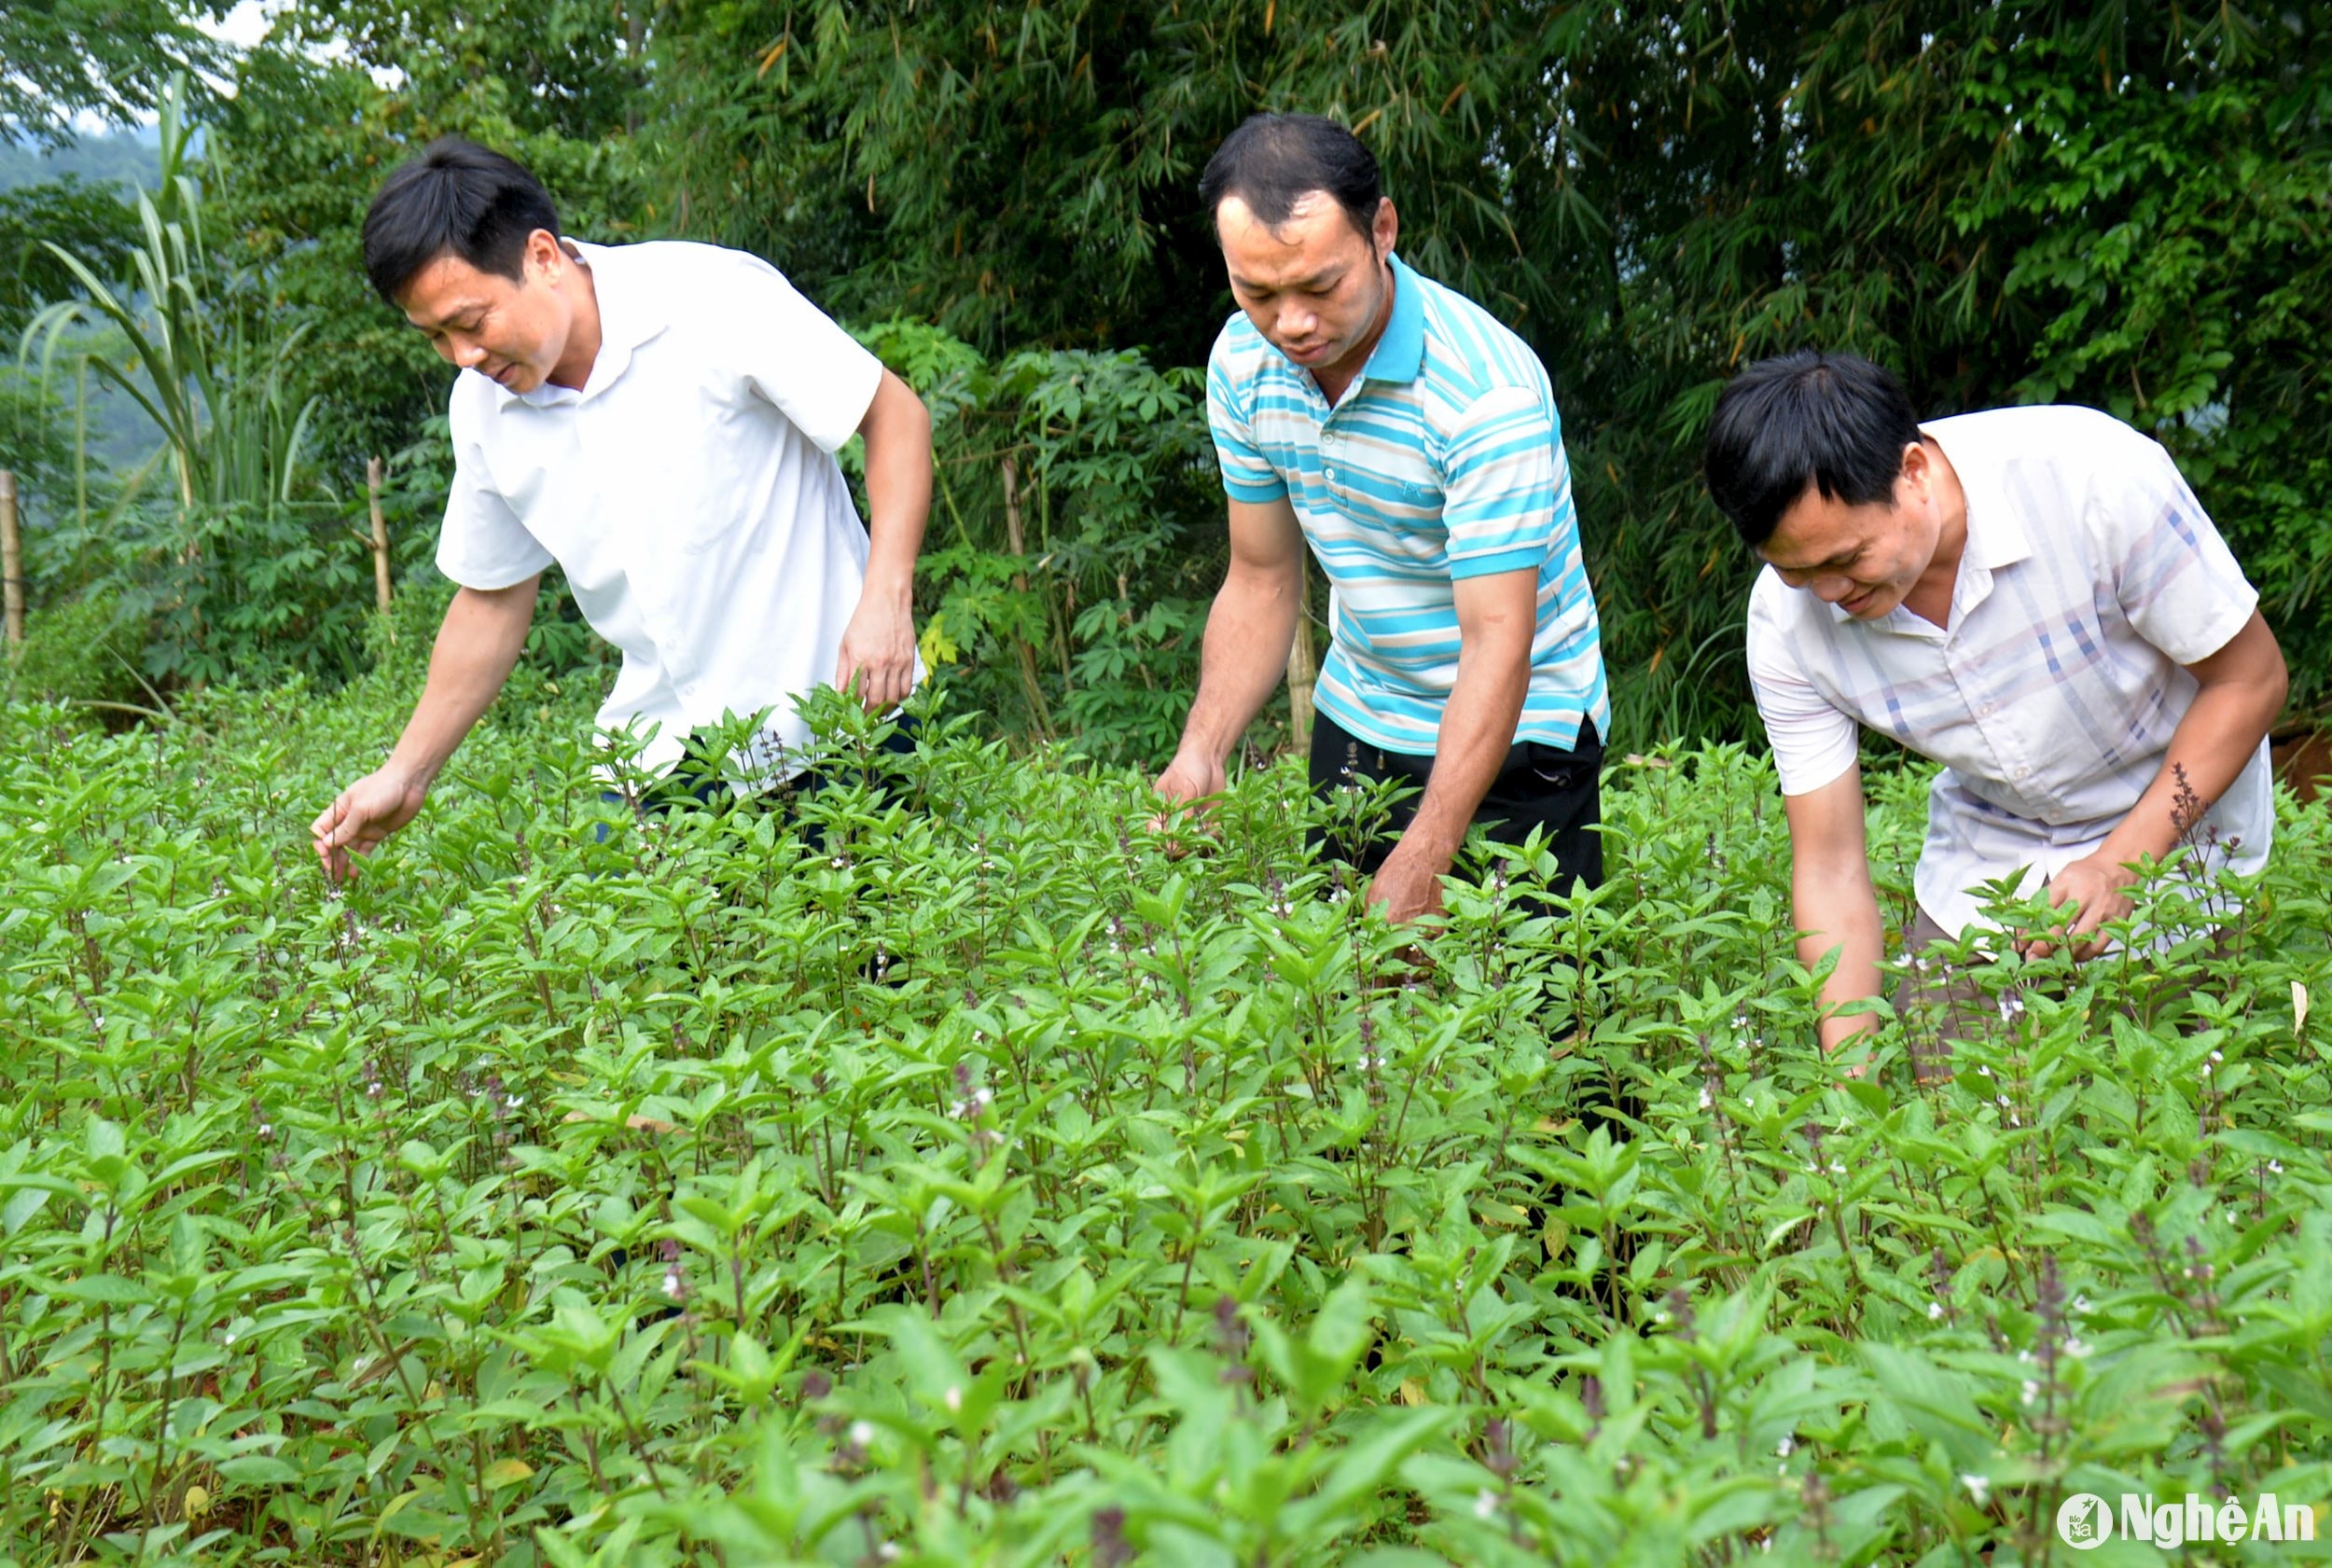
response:
[[(1989, 926), (1982, 882), (2031, 894), (2094, 852), (2162, 772), (2194, 700), (2183, 665), (2257, 604), (2169, 453), (2094, 408), (1994, 408), (1922, 427), (1968, 497), (1947, 625), (1854, 621), (1770, 567), (1749, 595), (1749, 679), (1782, 791), (1838, 779), (1856, 726), (1940, 761), (1917, 891), (1945, 931)], [(2204, 817), (2257, 870), (2267, 742)], [(2215, 868), (2215, 866), (2213, 866)]]

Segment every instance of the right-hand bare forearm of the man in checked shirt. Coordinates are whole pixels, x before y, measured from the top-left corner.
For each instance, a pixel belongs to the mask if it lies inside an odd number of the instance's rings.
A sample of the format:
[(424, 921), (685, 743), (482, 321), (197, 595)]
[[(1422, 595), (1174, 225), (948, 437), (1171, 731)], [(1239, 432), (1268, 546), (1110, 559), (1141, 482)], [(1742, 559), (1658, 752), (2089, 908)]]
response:
[[(2178, 775), (2185, 775), (2185, 786), (2199, 800), (2192, 810), (2208, 810), (2260, 751), (2260, 740), (2283, 712), (2283, 695), (2290, 686), (2283, 649), (2276, 646), (2276, 635), (2267, 630), (2260, 611), (2250, 611), (2250, 621), (2227, 646), (2187, 665), (2187, 672), (2201, 688), (2178, 728), (2171, 730), (2171, 747), (2162, 756), (2155, 782), (2145, 786), (2138, 803), (2122, 817), (2122, 826), (2108, 833), (2103, 845), (2050, 877), (2050, 903), (2080, 905), (2080, 915), (2066, 931), (2071, 938), (2089, 938), (2108, 919), (2129, 915), (2127, 866), (2138, 856), (2162, 859), (2178, 842), (2178, 821), (2173, 819)], [(2050, 947), (2052, 943), (2038, 940), (2027, 952), (2047, 957)], [(2075, 940), (2073, 957), (2087, 959), (2101, 947), (2099, 940)]]

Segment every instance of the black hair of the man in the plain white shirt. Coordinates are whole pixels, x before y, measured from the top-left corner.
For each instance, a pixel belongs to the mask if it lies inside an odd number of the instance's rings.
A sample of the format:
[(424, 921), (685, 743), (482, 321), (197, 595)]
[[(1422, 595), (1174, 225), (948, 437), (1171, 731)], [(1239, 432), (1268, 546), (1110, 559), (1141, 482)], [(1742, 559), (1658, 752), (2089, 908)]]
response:
[(389, 303), (438, 257), (518, 282), (536, 229), (557, 233), (560, 210), (522, 163), (441, 135), (389, 175), (364, 212), (364, 273)]

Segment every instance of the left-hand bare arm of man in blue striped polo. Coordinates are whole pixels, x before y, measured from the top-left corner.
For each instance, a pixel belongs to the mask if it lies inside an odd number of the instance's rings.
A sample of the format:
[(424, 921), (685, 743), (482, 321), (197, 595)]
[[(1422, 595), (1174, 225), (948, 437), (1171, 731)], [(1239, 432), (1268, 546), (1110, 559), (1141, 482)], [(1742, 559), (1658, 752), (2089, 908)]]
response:
[(1222, 793), (1222, 761), (1248, 733), (1287, 672), (1287, 649), (1304, 614), (1304, 527), (1283, 495), (1231, 502), (1231, 569), (1206, 614), (1199, 695), (1182, 723), (1182, 744), (1159, 775), (1173, 803)]

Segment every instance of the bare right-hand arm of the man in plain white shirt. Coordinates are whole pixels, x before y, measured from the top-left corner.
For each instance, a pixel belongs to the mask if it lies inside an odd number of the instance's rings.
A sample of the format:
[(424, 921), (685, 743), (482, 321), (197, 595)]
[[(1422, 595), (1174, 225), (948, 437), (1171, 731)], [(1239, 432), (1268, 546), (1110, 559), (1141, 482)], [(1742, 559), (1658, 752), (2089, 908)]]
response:
[(858, 420), (868, 441), (868, 581), (842, 630), (835, 686), (874, 712), (888, 712), (914, 691), (914, 558), (930, 516), (930, 411), (891, 371), (874, 385), (874, 401)]

